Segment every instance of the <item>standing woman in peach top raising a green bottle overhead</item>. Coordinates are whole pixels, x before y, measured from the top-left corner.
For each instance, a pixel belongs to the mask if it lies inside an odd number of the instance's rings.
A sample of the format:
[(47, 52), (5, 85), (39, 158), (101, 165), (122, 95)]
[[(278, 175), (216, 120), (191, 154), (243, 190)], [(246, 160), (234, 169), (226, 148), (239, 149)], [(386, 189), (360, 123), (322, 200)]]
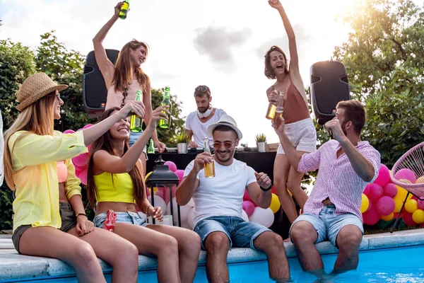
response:
[[(141, 90), (143, 93), (143, 103), (146, 105), (147, 123), (151, 120), (152, 114), (152, 94), (150, 79), (141, 69), (141, 64), (146, 61), (148, 55), (148, 45), (146, 42), (131, 40), (127, 42), (119, 52), (117, 62), (112, 64), (107, 58), (105, 47), (102, 41), (105, 39), (112, 25), (119, 18), (122, 4), (119, 2), (114, 7), (114, 15), (107, 21), (99, 30), (98, 34), (93, 38), (95, 61), (97, 62), (107, 88), (106, 110), (114, 107), (122, 107), (126, 101), (136, 98), (136, 91)], [(139, 133), (131, 132), (129, 136), (129, 146), (132, 146), (140, 137), (143, 131)], [(165, 150), (165, 144), (160, 142), (156, 130), (153, 131), (152, 139), (155, 147), (159, 152)], [(146, 149), (140, 155), (141, 163), (143, 164), (143, 174), (146, 173)]]

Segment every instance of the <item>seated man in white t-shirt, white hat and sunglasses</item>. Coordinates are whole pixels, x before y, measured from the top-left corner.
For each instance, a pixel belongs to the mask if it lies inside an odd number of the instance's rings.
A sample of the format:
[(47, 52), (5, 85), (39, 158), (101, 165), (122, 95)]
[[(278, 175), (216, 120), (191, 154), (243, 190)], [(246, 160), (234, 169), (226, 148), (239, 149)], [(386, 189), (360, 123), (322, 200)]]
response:
[[(227, 254), (231, 247), (263, 251), (268, 258), (269, 276), (277, 282), (288, 279), (283, 238), (265, 226), (242, 219), (245, 190), (259, 207), (269, 207), (271, 179), (234, 158), (242, 132), (232, 117), (223, 115), (208, 127), (208, 133), (213, 137), (215, 154), (197, 154), (175, 192), (179, 205), (187, 204), (193, 197), (194, 231), (207, 252), (208, 282), (229, 282)], [(215, 163), (216, 174), (206, 178), (204, 164), (211, 162)]]

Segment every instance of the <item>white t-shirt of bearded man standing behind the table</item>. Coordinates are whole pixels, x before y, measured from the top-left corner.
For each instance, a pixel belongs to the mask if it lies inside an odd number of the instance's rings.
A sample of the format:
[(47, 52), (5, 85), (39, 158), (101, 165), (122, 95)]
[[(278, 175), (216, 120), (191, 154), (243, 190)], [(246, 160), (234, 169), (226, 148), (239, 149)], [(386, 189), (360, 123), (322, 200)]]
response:
[(208, 125), (215, 124), (218, 122), (220, 117), (225, 113), (224, 110), (215, 108), (215, 113), (208, 121), (202, 123), (197, 115), (197, 111), (191, 112), (186, 119), (185, 128), (193, 131), (193, 140), (196, 142), (199, 148), (204, 148), (205, 137), (209, 137), (209, 145), (213, 145), (213, 139), (208, 135)]

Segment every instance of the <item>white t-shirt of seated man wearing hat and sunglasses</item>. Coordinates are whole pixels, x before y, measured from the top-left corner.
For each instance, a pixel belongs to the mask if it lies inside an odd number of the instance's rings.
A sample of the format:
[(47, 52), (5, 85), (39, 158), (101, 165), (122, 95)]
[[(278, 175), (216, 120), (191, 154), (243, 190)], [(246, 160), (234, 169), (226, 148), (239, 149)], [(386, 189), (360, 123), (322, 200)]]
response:
[[(194, 161), (187, 165), (184, 177), (192, 171)], [(215, 177), (205, 178), (204, 169), (197, 174), (199, 187), (193, 195), (194, 225), (209, 216), (239, 216), (242, 218), (243, 195), (247, 185), (257, 182), (254, 169), (233, 159), (230, 166), (215, 162)]]

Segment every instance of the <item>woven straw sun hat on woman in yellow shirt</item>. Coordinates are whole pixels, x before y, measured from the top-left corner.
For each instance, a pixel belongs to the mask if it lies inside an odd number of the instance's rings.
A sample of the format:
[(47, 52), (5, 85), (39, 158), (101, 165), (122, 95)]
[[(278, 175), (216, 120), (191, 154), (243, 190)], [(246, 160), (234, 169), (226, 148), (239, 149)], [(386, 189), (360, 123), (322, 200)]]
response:
[(28, 76), (18, 91), (18, 102), (20, 104), (16, 106), (16, 109), (22, 111), (52, 91), (63, 91), (65, 88), (68, 88), (66, 84), (55, 83), (45, 73)]

